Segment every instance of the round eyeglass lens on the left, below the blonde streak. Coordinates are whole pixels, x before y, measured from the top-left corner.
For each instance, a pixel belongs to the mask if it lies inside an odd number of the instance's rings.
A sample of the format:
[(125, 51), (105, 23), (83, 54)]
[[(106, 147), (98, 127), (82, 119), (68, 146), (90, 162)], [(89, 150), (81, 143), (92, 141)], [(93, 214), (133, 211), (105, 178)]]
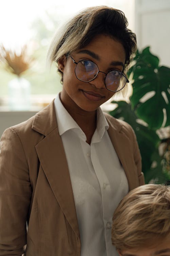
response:
[(93, 80), (97, 76), (98, 72), (99, 70), (97, 65), (89, 60), (81, 60), (75, 67), (75, 75), (83, 82)]

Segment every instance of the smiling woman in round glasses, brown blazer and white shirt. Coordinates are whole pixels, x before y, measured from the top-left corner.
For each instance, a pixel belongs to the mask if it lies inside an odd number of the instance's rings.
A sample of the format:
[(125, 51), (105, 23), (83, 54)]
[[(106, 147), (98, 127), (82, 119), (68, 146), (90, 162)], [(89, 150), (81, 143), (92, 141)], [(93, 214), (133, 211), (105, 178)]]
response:
[[(111, 256), (112, 215), (144, 183), (134, 131), (100, 105), (129, 82), (136, 50), (124, 14), (107, 6), (76, 15), (54, 37), (63, 89), (1, 139), (0, 255)], [(28, 231), (26, 230), (28, 223)]]

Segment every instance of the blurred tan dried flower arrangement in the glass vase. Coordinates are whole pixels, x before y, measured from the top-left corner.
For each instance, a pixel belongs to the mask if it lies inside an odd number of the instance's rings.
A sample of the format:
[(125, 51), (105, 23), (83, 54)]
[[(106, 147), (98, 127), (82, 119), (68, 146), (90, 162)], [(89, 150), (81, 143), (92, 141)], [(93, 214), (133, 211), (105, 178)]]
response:
[(27, 46), (21, 48), (19, 54), (15, 51), (7, 50), (3, 45), (0, 46), (0, 60), (4, 63), (5, 69), (17, 76), (27, 71), (34, 58), (29, 57), (27, 53)]

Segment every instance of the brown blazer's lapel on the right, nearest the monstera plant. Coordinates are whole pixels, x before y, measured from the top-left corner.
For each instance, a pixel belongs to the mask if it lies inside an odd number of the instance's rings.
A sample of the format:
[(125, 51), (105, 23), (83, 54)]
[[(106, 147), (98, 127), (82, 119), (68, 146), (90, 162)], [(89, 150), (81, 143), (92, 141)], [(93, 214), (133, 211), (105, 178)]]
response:
[(115, 118), (115, 122), (113, 124), (113, 121), (110, 121), (109, 115), (105, 114), (105, 116), (109, 124), (109, 137), (125, 171), (128, 179), (129, 190), (132, 190), (133, 188), (139, 186), (135, 171), (136, 167), (133, 158), (133, 150), (130, 147), (133, 142), (131, 142), (126, 134), (122, 131), (122, 124), (120, 124)]

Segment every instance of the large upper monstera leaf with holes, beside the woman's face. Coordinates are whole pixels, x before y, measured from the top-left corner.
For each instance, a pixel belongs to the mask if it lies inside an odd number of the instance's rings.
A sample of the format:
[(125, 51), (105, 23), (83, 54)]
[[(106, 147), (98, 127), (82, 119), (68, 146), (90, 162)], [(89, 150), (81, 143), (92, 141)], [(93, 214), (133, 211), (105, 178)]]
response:
[(150, 53), (149, 47), (137, 52), (135, 61), (128, 73), (133, 73), (131, 104), (136, 115), (150, 128), (159, 129), (166, 112), (164, 126), (170, 125), (170, 68), (159, 67), (159, 59)]

